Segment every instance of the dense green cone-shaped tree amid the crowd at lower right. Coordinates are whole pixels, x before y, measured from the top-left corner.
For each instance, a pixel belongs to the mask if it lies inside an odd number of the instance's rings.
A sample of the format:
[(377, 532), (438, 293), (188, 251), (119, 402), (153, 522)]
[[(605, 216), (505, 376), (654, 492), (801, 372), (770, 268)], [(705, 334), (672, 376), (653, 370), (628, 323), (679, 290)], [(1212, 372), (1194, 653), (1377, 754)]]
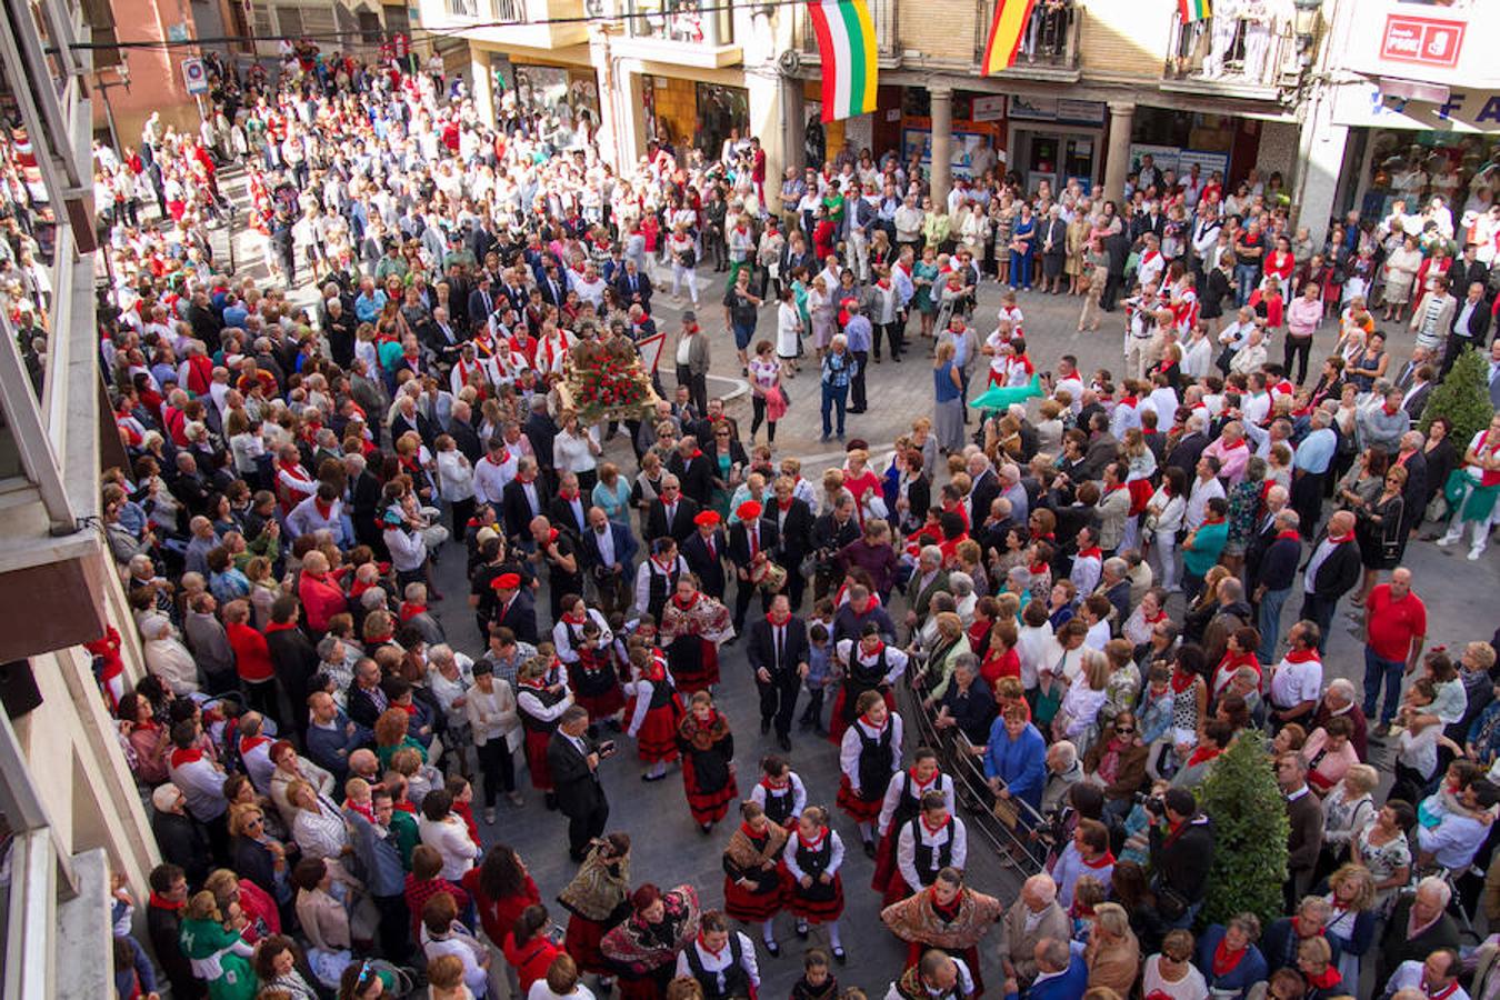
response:
[(1214, 870), (1203, 919), (1222, 924), (1248, 910), (1269, 925), (1282, 916), (1290, 823), (1258, 732), (1242, 730), (1220, 754), (1198, 789), (1198, 805), (1214, 820)]

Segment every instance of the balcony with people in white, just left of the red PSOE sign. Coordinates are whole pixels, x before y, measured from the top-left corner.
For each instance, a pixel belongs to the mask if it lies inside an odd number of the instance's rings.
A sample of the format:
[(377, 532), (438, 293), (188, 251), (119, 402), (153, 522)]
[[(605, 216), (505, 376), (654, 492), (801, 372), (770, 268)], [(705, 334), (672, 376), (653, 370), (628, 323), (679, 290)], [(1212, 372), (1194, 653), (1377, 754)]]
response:
[(1284, 88), (1296, 87), (1302, 73), (1290, 24), (1248, 18), (1184, 22), (1173, 13), (1168, 37), (1173, 46), (1162, 66), (1162, 90), (1275, 100)]

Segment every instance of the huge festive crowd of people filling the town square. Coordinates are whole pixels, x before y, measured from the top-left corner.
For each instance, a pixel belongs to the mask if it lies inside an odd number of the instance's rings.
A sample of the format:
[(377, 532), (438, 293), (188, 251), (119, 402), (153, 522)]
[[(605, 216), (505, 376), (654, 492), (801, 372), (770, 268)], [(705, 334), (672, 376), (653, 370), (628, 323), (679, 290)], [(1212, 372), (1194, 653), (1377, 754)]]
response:
[[(310, 43), (212, 78), (200, 133), (153, 118), (94, 151), (129, 456), (104, 526), (148, 673), (126, 682), (117, 634), (93, 652), (165, 859), (154, 963), (117, 892), (122, 997), (717, 1000), (754, 996), (788, 934), (816, 936), (794, 997), (1500, 987), (1500, 942), (1478, 970), (1458, 951), (1467, 915), (1500, 916), (1496, 645), (1430, 643), (1406, 567), (1428, 523), (1479, 559), (1500, 493), (1500, 415), (1468, 441), (1416, 429), (1464, 348), (1500, 408), (1492, 166), (1456, 220), (1434, 195), (1314, 247), (1280, 178), (1226, 193), (1149, 157), (1119, 201), (990, 165), (934, 204), (920, 163), (868, 151), (768, 187), (740, 136), (616, 171), (586, 118), (507, 94), (482, 121), (441, 70)], [(231, 168), (267, 279), (213, 250)], [(0, 246), (30, 274), (24, 222)], [(699, 325), (720, 288), (722, 334)], [(1064, 355), (1041, 378), (1023, 304), (1047, 292), (1084, 300), (1080, 330), (1124, 306), (1119, 375)], [(568, 354), (658, 333), (668, 294), (692, 306), (670, 399), (580, 421)], [(705, 378), (730, 337), (747, 435)], [(891, 454), (846, 441), (867, 366), (928, 352), (933, 417)], [(774, 445), (804, 364), (846, 444), (816, 481)], [(1042, 399), (970, 423), (992, 390)], [(476, 648), (440, 559), (465, 567)], [(1350, 619), (1362, 685), (1322, 658)], [(732, 646), (778, 750), (750, 768), (753, 709), (716, 702)], [(837, 789), (796, 772), (794, 729)], [(1286, 796), (1284, 910), (1206, 924), (1197, 790), (1250, 732)], [(680, 772), (722, 888), (632, 871), (654, 831), (610, 825), (612, 756)], [(982, 801), (958, 795), (975, 775)], [(566, 838), (566, 916), (514, 823)], [(992, 856), (1016, 900), (968, 885)], [(906, 951), (888, 985), (846, 967), (885, 948), (843, 937), (846, 891)]]

